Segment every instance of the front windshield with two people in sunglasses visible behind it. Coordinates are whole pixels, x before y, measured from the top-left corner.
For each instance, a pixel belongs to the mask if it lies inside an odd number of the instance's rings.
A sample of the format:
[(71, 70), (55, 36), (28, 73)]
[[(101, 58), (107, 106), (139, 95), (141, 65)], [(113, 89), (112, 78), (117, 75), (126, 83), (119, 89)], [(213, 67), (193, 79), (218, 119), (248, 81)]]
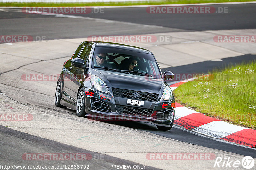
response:
[(102, 67), (108, 71), (122, 70), (122, 73), (161, 78), (154, 56), (148, 53), (95, 47), (92, 63), (95, 69)]

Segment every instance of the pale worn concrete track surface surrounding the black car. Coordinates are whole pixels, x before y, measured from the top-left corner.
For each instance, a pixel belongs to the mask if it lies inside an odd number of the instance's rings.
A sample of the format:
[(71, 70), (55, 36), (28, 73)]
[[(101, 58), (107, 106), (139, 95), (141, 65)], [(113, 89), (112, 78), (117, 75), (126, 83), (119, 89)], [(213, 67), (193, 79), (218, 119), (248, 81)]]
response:
[[(179, 34), (182, 35), (182, 33)], [(205, 33), (203, 34), (205, 35)], [(209, 34), (205, 35), (205, 39), (209, 39)], [(45, 120), (1, 121), (1, 125), (63, 144), (160, 169), (170, 169), (170, 165), (174, 169), (212, 169), (215, 159), (193, 160), (185, 163), (184, 160), (153, 161), (146, 159), (147, 153), (214, 153), (215, 155), (226, 155), (232, 160), (243, 158), (234, 153), (191, 145), (146, 131), (77, 117), (75, 111), (54, 106), (55, 81), (23, 81), (21, 79), (22, 74), (60, 73), (64, 61), (71, 57), (81, 40), (61, 39), (40, 43), (0, 44), (0, 52), (4, 54), (1, 55), (1, 59), (7, 61), (2, 63), (4, 67), (2, 67), (0, 76), (0, 89), (3, 94), (14, 99), (10, 100), (4, 95), (0, 95), (1, 113), (47, 115)], [(229, 50), (228, 47), (223, 48), (197, 41), (184, 44), (182, 43), (184, 41), (187, 40), (179, 39), (177, 43), (170, 42), (157, 46), (154, 43), (129, 44), (154, 50), (160, 65), (164, 63), (161, 67), (182, 65), (182, 60), (191, 64), (196, 62), (195, 59), (207, 61), (219, 58), (218, 55), (232, 57), (243, 54)], [(37, 48), (38, 46), (40, 48)], [(214, 48), (214, 54), (208, 53), (211, 48)], [(183, 51), (183, 49), (186, 50)], [(199, 49), (200, 52), (198, 52)], [(175, 51), (177, 57), (174, 56), (172, 60), (161, 57), (171, 51)], [(218, 51), (225, 53), (221, 54)], [(183, 56), (178, 57), (178, 53), (182, 53)], [(8, 59), (6, 59), (7, 57)], [(12, 65), (12, 67), (8, 68), (8, 65)]]

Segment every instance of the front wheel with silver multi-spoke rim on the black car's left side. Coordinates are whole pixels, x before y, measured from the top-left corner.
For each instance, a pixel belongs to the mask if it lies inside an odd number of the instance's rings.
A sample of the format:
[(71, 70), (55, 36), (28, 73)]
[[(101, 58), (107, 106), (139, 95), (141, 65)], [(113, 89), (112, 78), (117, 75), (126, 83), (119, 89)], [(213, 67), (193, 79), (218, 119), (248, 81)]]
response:
[(76, 114), (79, 117), (85, 117), (85, 90), (80, 89), (76, 100)]

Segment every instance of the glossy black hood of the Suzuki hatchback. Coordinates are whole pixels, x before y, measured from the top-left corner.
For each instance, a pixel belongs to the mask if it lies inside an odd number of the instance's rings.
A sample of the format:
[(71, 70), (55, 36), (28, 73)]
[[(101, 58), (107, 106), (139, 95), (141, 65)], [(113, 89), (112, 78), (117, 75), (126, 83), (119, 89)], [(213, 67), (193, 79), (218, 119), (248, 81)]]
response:
[(94, 69), (91, 73), (99, 76), (103, 81), (105, 81), (109, 88), (128, 89), (162, 95), (164, 88), (167, 85), (163, 79), (148, 76), (110, 72), (105, 70), (96, 71)]

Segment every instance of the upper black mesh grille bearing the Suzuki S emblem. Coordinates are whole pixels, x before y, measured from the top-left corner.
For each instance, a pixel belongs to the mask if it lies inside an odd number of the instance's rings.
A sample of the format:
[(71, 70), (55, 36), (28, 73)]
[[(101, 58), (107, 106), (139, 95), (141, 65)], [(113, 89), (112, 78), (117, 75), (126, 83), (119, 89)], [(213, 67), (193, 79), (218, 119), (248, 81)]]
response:
[(115, 97), (132, 98), (136, 100), (145, 100), (145, 101), (153, 101), (153, 102), (156, 102), (158, 98), (158, 94), (156, 93), (147, 93), (147, 92), (118, 89), (118, 88), (112, 88), (112, 91)]

